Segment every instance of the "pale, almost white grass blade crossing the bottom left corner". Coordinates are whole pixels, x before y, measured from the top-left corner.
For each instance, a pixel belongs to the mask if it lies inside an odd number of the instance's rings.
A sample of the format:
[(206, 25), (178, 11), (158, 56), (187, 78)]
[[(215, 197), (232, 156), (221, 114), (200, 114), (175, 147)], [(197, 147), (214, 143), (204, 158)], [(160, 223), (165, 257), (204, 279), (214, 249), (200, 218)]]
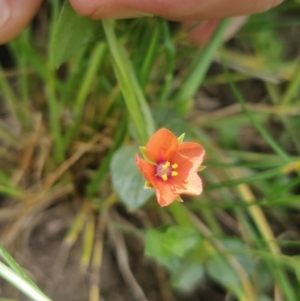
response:
[(35, 301), (51, 301), (36, 286), (25, 281), (2, 262), (0, 262), (0, 276)]

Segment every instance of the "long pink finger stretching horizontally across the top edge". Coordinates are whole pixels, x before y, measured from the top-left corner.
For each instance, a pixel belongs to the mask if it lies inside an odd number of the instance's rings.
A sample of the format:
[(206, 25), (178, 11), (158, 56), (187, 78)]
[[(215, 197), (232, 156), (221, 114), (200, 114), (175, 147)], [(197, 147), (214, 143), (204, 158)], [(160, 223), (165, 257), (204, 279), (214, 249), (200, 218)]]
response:
[(94, 19), (118, 11), (139, 11), (169, 20), (218, 19), (266, 11), (283, 0), (70, 0), (74, 9)]

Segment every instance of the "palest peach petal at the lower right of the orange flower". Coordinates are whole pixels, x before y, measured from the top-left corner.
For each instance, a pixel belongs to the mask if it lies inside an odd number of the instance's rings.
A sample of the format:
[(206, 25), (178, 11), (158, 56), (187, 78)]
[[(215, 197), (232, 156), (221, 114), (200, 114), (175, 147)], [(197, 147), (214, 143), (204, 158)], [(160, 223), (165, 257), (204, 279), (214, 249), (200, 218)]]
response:
[(199, 175), (196, 172), (188, 174), (183, 183), (180, 185), (175, 183), (173, 192), (175, 194), (200, 195), (202, 192), (202, 181)]

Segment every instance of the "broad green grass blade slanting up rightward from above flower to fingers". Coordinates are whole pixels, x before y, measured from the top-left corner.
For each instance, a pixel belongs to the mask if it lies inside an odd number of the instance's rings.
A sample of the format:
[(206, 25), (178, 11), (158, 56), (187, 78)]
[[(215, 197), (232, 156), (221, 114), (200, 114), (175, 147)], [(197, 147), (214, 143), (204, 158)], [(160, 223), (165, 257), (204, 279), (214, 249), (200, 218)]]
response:
[(202, 84), (208, 68), (214, 58), (216, 50), (222, 45), (225, 31), (230, 23), (230, 19), (220, 22), (219, 27), (215, 31), (207, 46), (201, 51), (200, 59), (185, 80), (179, 93), (176, 95), (176, 101), (179, 105), (179, 112), (184, 114), (188, 109), (188, 101), (198, 91)]

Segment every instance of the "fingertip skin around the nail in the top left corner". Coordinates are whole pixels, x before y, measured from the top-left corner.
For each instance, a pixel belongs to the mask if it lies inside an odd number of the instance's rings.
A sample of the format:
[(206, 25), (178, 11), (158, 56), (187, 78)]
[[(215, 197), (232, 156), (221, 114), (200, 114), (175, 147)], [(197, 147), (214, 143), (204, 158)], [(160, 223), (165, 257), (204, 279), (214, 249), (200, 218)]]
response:
[(8, 0), (10, 15), (0, 27), (0, 44), (17, 36), (32, 20), (42, 0)]

